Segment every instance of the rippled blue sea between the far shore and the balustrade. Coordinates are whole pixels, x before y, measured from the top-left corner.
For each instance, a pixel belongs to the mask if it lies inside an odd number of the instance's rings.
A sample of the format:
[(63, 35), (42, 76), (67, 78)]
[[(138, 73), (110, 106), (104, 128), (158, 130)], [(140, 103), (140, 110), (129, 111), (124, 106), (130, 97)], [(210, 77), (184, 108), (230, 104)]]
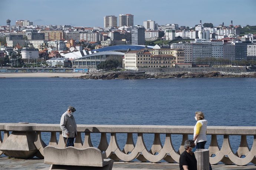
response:
[[(3, 78), (0, 123), (59, 124), (61, 115), (71, 105), (76, 108), (77, 124), (194, 126), (194, 113), (202, 111), (208, 126), (255, 126), (255, 85), (255, 78)], [(154, 136), (145, 136), (150, 147)], [(49, 134), (42, 138), (49, 143)], [(124, 145), (122, 134), (120, 139)], [(175, 149), (181, 135), (176, 139)], [(239, 146), (240, 136), (230, 139), (234, 148)], [(99, 142), (92, 140), (95, 145)], [(209, 144), (210, 141), (206, 147)]]

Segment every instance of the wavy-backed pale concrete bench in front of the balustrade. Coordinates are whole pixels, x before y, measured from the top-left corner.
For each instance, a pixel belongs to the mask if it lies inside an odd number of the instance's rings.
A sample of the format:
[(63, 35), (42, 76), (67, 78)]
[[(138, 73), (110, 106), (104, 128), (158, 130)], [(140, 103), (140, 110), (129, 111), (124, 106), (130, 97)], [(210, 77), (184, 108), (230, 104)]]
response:
[(112, 159), (104, 159), (101, 150), (96, 147), (78, 149), (73, 146), (66, 148), (46, 146), (43, 152), (45, 164), (52, 164), (50, 170), (112, 170), (114, 163)]

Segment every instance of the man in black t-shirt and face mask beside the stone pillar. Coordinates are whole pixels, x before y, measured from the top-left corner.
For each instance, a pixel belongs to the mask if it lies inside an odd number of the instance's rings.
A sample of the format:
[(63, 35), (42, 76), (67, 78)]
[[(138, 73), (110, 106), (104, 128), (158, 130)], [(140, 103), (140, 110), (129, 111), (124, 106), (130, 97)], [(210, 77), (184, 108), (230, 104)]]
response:
[(180, 155), (180, 170), (197, 170), (197, 160), (194, 152), (196, 145), (194, 140), (186, 140), (185, 151)]

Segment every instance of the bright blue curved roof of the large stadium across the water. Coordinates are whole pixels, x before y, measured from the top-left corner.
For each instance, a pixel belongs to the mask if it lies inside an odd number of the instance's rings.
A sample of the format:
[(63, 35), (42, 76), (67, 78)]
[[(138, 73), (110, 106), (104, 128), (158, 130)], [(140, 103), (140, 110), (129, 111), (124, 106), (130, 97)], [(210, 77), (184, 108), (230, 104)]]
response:
[[(127, 51), (129, 48), (131, 50), (141, 50), (144, 49), (145, 45), (113, 45), (108, 47), (99, 48), (92, 51)], [(154, 46), (148, 46), (148, 48), (153, 48)]]

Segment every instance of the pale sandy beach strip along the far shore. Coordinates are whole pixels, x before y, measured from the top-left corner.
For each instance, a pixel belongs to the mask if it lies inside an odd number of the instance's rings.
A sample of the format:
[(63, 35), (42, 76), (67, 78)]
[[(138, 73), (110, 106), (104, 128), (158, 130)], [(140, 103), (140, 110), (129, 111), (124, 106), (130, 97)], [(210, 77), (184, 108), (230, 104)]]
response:
[(85, 73), (57, 73), (57, 72), (30, 72), (30, 73), (0, 73), (0, 78), (18, 78), (18, 77), (62, 77), (72, 78), (85, 75)]

